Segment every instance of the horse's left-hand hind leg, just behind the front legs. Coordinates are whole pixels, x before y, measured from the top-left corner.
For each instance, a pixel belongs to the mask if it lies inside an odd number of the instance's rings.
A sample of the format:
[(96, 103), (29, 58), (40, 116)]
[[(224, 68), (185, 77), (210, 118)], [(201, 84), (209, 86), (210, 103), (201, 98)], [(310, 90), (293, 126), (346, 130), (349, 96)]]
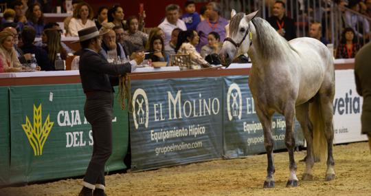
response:
[(312, 180), (312, 168), (314, 165), (313, 158), (313, 124), (309, 119), (308, 108), (309, 103), (306, 102), (302, 105), (296, 107), (296, 119), (299, 121), (300, 126), (302, 127), (304, 138), (306, 140), (306, 169), (304, 171), (302, 180)]

